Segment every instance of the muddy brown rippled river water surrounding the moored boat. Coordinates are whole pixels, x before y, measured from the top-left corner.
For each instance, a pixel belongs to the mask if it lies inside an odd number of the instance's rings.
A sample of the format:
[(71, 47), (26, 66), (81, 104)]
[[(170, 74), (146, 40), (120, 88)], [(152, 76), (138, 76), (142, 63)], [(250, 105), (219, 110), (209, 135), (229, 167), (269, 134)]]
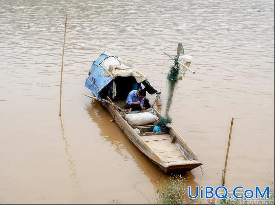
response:
[(234, 117), (226, 185), (274, 179), (274, 1), (0, 0), (0, 31), (0, 203), (153, 203), (168, 176), (84, 83), (109, 51), (162, 91), (163, 111), (173, 63), (163, 52), (179, 42), (196, 73), (179, 81), (171, 117), (204, 173), (182, 176), (221, 184)]

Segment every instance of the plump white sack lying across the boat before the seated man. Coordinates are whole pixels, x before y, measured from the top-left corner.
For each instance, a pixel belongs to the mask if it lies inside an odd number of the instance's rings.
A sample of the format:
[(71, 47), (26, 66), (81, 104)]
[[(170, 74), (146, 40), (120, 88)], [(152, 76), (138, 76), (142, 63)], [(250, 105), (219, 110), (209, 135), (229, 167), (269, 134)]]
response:
[(132, 126), (138, 126), (138, 125), (146, 125), (151, 124), (156, 121), (156, 117), (152, 113), (135, 113), (135, 114), (127, 114), (125, 116), (125, 120), (132, 125)]

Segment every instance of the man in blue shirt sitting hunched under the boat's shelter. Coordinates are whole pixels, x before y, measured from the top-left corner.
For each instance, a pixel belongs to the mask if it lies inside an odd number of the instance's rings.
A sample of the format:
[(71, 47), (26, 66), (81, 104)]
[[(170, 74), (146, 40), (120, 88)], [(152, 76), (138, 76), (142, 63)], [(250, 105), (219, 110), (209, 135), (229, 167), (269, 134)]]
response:
[(150, 107), (149, 100), (145, 98), (146, 90), (132, 90), (126, 100), (125, 109), (144, 110)]

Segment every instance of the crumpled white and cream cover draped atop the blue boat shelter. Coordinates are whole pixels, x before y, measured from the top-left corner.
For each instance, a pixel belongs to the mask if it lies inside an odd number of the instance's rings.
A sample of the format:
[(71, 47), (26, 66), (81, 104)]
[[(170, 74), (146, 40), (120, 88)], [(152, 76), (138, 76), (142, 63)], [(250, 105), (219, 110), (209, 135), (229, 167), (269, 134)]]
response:
[(103, 67), (108, 71), (105, 74), (106, 75), (112, 74), (113, 77), (133, 76), (133, 77), (135, 77), (135, 79), (138, 83), (147, 79), (142, 72), (127, 65), (127, 63), (124, 62), (122, 59), (115, 58), (113, 56), (108, 57), (103, 61)]

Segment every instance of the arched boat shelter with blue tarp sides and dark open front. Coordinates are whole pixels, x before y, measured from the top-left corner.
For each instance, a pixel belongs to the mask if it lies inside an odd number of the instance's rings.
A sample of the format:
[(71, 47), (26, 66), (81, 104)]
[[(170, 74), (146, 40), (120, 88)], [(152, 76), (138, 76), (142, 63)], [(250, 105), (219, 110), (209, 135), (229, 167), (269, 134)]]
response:
[(96, 98), (126, 100), (133, 89), (145, 89), (153, 95), (157, 90), (140, 71), (108, 52), (103, 52), (90, 68), (85, 86)]

